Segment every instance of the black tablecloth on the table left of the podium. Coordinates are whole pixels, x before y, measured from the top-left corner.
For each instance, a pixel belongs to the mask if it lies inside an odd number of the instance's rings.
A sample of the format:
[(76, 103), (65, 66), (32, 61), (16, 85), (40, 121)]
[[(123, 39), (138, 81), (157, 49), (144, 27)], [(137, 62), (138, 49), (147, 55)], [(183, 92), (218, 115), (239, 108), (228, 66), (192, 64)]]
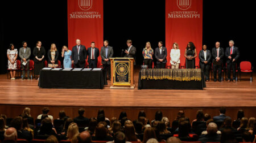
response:
[(100, 71), (52, 71), (41, 70), (38, 86), (40, 88), (83, 88), (103, 89), (107, 84)]

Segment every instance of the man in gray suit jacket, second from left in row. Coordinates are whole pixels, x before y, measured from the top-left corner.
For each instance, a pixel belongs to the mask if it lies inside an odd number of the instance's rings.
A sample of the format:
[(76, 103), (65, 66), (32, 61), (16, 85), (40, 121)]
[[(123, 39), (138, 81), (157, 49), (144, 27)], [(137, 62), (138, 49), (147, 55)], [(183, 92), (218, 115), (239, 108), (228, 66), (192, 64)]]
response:
[[(27, 42), (22, 42), (23, 47), (20, 47), (19, 49), (19, 57), (21, 59), (22, 64), (22, 80), (25, 77), (25, 66), (27, 66), (27, 79), (30, 79), (30, 54), (31, 50), (30, 47), (27, 47)], [(26, 63), (26, 64), (23, 64)]]

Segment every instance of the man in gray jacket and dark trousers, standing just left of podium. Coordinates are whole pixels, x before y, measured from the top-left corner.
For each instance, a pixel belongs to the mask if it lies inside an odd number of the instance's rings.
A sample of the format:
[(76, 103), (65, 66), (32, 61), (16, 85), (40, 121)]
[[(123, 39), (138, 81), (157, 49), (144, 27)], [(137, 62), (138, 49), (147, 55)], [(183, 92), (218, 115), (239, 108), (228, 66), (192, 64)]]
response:
[(102, 66), (103, 66), (103, 69), (105, 72), (105, 76), (107, 79), (110, 79), (110, 77), (111, 77), (111, 74), (110, 74), (111, 68), (110, 68), (110, 59), (109, 58), (113, 57), (113, 53), (114, 53), (113, 47), (109, 46), (108, 40), (105, 40), (104, 46), (101, 47), (100, 55), (101, 55), (101, 63), (102, 63)]

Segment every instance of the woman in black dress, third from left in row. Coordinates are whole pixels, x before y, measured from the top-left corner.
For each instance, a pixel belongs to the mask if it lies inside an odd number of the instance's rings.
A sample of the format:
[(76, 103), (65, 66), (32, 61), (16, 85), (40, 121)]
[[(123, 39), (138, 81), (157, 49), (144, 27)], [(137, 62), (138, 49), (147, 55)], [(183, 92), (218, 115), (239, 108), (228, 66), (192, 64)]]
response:
[(35, 62), (35, 69), (34, 69), (34, 74), (35, 78), (39, 79), (40, 75), (40, 70), (44, 67), (44, 57), (46, 55), (46, 50), (44, 47), (42, 47), (42, 42), (38, 41), (36, 43), (36, 46), (34, 47), (33, 50), (33, 55), (34, 55), (34, 62)]

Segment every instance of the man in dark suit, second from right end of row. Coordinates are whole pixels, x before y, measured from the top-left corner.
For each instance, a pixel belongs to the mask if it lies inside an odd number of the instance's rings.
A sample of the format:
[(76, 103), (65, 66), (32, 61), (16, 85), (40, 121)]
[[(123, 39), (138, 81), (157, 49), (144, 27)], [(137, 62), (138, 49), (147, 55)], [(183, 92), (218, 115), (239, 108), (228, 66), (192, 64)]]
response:
[(212, 66), (213, 66), (213, 77), (214, 82), (217, 81), (217, 70), (218, 70), (218, 81), (221, 82), (221, 68), (224, 58), (224, 49), (220, 47), (220, 42), (215, 43), (215, 47), (212, 49)]

